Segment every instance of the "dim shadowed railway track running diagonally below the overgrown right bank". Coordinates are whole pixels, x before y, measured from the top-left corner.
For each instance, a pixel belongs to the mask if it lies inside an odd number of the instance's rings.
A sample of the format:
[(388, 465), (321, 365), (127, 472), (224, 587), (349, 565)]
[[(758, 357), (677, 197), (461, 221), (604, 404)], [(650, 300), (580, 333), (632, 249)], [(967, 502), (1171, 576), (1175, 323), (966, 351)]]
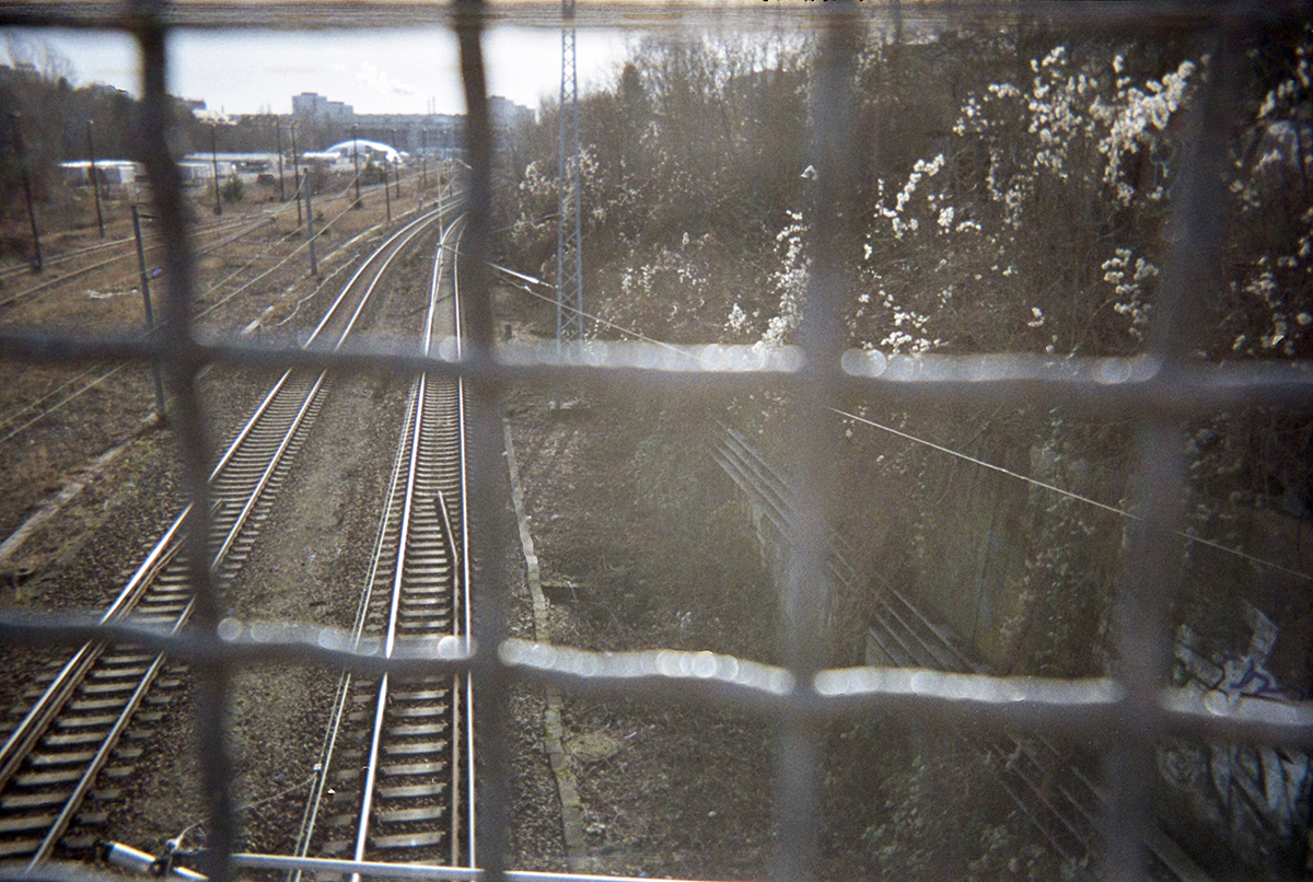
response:
[[(713, 458), (781, 537), (792, 534), (793, 509), (785, 478), (738, 432), (726, 428)], [(859, 574), (848, 563), (853, 550), (832, 537), (827, 567), (848, 592), (856, 593)], [(895, 587), (881, 581), (868, 614), (868, 664), (927, 668), (955, 673), (991, 671), (962, 648), (961, 640), (916, 608)], [(1099, 814), (1106, 797), (1096, 784), (1094, 760), (1043, 735), (968, 732), (955, 738), (983, 755), (1016, 807), (1060, 857), (1081, 866), (1096, 853)], [(1167, 835), (1154, 832), (1146, 843), (1157, 861), (1154, 878), (1207, 882), (1209, 877)]]

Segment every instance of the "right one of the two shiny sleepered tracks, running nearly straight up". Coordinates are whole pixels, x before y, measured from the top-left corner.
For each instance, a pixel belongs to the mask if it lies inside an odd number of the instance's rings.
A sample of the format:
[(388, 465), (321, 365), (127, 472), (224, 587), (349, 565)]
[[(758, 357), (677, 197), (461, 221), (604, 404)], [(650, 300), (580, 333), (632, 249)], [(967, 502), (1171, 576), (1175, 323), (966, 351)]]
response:
[[(424, 350), (458, 339), (456, 226), (440, 243)], [(410, 391), (356, 639), (391, 656), (406, 639), (469, 633), (463, 404), (457, 382)], [(297, 856), (473, 865), (467, 677), (344, 676)], [(331, 785), (331, 786), (330, 786)]]

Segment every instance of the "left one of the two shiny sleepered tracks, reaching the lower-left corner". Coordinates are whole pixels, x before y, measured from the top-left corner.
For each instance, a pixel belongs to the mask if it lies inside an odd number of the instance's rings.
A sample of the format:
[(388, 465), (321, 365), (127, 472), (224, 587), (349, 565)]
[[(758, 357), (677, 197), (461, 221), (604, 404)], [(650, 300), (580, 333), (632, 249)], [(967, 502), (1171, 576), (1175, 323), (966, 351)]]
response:
[[(307, 345), (320, 336), (339, 348), (355, 329), (386, 270), (427, 228), (436, 211), (393, 234), (357, 269), (327, 310)], [(236, 433), (210, 475), (213, 518), (210, 570), (223, 583), (249, 554), (322, 406), (327, 374), (288, 371)], [(192, 609), (186, 559), (177, 516), (146, 560), (104, 613), (177, 630)], [(30, 689), (11, 713), (0, 747), (0, 858), (34, 866), (58, 847), (91, 845), (105, 812), (84, 810), (93, 788), (113, 799), (112, 784), (131, 774), (142, 751), (134, 744), (158, 722), (152, 705), (167, 704), (181, 668), (131, 646), (88, 643), (53, 663), (41, 688)]]

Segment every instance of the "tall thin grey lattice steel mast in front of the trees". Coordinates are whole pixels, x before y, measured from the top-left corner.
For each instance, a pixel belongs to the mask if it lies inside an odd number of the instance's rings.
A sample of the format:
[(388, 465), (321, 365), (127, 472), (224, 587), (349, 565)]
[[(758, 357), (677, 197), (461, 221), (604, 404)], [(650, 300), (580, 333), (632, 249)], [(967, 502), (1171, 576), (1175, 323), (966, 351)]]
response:
[(561, 217), (557, 222), (557, 349), (583, 340), (583, 248), (579, 210), (579, 75), (574, 0), (561, 0)]

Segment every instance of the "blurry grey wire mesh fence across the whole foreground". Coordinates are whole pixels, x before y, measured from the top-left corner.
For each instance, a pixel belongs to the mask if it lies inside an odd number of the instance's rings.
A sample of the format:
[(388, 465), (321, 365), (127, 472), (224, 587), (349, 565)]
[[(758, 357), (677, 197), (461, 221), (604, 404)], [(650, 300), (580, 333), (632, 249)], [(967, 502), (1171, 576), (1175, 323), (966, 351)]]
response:
[[(781, 9), (783, 7), (783, 9)], [(381, 672), (471, 672), (479, 696), (478, 843), (482, 878), (521, 878), (507, 864), (511, 788), (508, 781), (508, 694), (513, 681), (546, 684), (569, 694), (683, 697), (713, 707), (759, 711), (777, 726), (776, 789), (771, 795), (775, 835), (771, 878), (823, 875), (822, 786), (826, 721), (878, 710), (911, 719), (956, 721), (972, 726), (1024, 726), (1035, 731), (1096, 735), (1115, 731), (1116, 748), (1104, 756), (1100, 819), (1104, 850), (1094, 874), (1104, 879), (1146, 878), (1144, 843), (1155, 820), (1152, 781), (1158, 774), (1155, 744), (1167, 734), (1207, 740), (1308, 748), (1313, 746), (1313, 704), (1242, 698), (1218, 702), (1209, 694), (1170, 684), (1173, 622), (1170, 592), (1179, 579), (1186, 532), (1182, 511), (1186, 463), (1180, 424), (1186, 417), (1229, 408), (1274, 407), (1306, 412), (1313, 402), (1313, 371), (1301, 360), (1217, 364), (1196, 357), (1207, 299), (1220, 278), (1218, 253), (1225, 235), (1220, 211), (1222, 169), (1232, 161), (1229, 133), (1236, 127), (1241, 67), (1270, 29), (1301, 26), (1308, 10), (1299, 3), (1020, 3), (932, 4), (915, 14), (945, 26), (990, 28), (1003, 20), (1032, 17), (1065, 29), (1134, 34), (1179, 30), (1211, 43), (1207, 84), (1192, 114), (1186, 159), (1173, 193), (1174, 235), (1152, 319), (1148, 348), (1125, 357), (1045, 357), (1040, 354), (878, 356), (846, 349), (840, 304), (844, 248), (855, 205), (850, 181), (859, 150), (859, 109), (847, 84), (865, 17), (898, 14), (898, 4), (702, 4), (681, 8), (692, 20), (752, 32), (767, 16), (806, 20), (817, 39), (809, 114), (814, 143), (809, 156), (817, 186), (807, 207), (813, 218), (813, 264), (796, 344), (760, 346), (668, 346), (658, 343), (604, 343), (557, 346), (495, 345), (491, 280), (492, 129), (484, 81), (483, 38), (490, 24), (512, 17), (540, 26), (559, 24), (553, 4), (242, 4), (242, 3), (5, 3), (7, 26), (101, 28), (131, 34), (142, 71), (143, 116), (139, 131), (171, 280), (161, 311), (161, 332), (148, 340), (85, 337), (22, 328), (0, 329), (0, 358), (24, 364), (154, 362), (164, 371), (171, 419), (181, 438), (188, 559), (197, 609), (193, 623), (165, 634), (122, 623), (97, 623), (56, 613), (0, 613), (0, 639), (14, 644), (76, 644), (87, 639), (122, 640), (188, 660), (200, 686), (200, 743), (205, 757), (202, 791), (209, 814), (204, 870), (214, 879), (239, 875), (234, 854), (238, 833), (231, 790), (232, 759), (223, 738), (225, 707), (235, 672), (255, 663), (323, 665), (362, 675)], [(653, 16), (670, 7), (579, 4), (575, 25), (612, 26), (614, 16)], [(909, 13), (911, 9), (907, 10)], [(769, 20), (769, 21), (773, 21)], [(179, 28), (376, 28), (440, 24), (454, 32), (467, 108), (469, 231), (465, 236), (465, 320), (469, 345), (460, 360), (421, 357), (404, 348), (272, 349), (231, 341), (201, 341), (193, 326), (194, 253), (183, 182), (169, 152), (168, 43)], [(549, 77), (550, 79), (550, 77)], [(1306, 109), (1306, 108), (1305, 108)], [(639, 392), (680, 388), (727, 398), (771, 388), (797, 404), (792, 467), (794, 509), (786, 522), (790, 562), (777, 585), (781, 610), (779, 667), (709, 652), (653, 651), (595, 654), (509, 639), (511, 595), (495, 568), (477, 587), (481, 614), (473, 648), (450, 643), (412, 643), (391, 659), (353, 652), (341, 634), (295, 622), (285, 629), (253, 629), (226, 621), (213, 576), (204, 566), (209, 536), (210, 429), (197, 394), (197, 375), (207, 365), (328, 368), (340, 373), (427, 371), (460, 377), (470, 391), (473, 521), (499, 522), (503, 505), (495, 476), (500, 458), (499, 395), (512, 383), (548, 386), (561, 381), (582, 387)], [(876, 402), (915, 411), (939, 404), (994, 404), (1024, 400), (1086, 415), (1117, 415), (1134, 425), (1138, 520), (1132, 525), (1120, 584), (1119, 623), (1113, 634), (1116, 664), (1106, 677), (1058, 680), (943, 673), (857, 667), (829, 668), (827, 610), (834, 585), (830, 524), (836, 494), (830, 463), (838, 444), (832, 412), (853, 402)], [(484, 547), (507, 537), (486, 536)], [(1304, 574), (1306, 578), (1306, 574)], [(400, 875), (400, 873), (383, 873)], [(3, 878), (89, 878), (93, 872), (46, 866), (37, 872), (0, 870)], [(452, 878), (457, 878), (453, 875)], [(460, 877), (465, 878), (465, 877)], [(530, 878), (524, 874), (523, 878)], [(571, 877), (584, 878), (584, 877)]]

